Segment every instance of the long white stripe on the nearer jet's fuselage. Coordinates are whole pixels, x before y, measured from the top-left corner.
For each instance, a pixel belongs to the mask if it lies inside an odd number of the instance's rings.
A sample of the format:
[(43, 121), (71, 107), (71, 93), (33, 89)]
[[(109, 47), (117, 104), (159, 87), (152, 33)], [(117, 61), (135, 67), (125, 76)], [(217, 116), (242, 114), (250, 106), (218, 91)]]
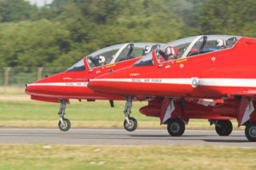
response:
[[(226, 87), (256, 87), (256, 79), (251, 78), (199, 78), (198, 85), (205, 86), (226, 86)], [(174, 85), (192, 85), (193, 78), (109, 78), (90, 79), (90, 81), (118, 81), (157, 83)]]

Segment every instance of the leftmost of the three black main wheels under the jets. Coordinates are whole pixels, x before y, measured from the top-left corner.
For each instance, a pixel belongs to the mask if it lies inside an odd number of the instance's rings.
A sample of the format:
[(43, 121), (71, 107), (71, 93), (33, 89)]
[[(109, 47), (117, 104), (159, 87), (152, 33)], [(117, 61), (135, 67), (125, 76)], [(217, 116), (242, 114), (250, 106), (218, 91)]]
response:
[(167, 131), (169, 132), (170, 136), (182, 136), (185, 131), (184, 121), (181, 119), (172, 119), (168, 121)]

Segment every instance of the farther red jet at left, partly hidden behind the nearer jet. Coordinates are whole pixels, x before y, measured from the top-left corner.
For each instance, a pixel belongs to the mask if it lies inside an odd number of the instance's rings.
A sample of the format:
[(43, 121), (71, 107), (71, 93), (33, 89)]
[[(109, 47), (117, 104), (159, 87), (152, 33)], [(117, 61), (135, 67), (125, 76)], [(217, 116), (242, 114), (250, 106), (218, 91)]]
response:
[(60, 102), (58, 127), (62, 131), (67, 131), (70, 129), (70, 121), (64, 118), (64, 115), (66, 104), (70, 103), (69, 99), (110, 100), (111, 107), (114, 107), (113, 100), (124, 100), (124, 97), (94, 93), (87, 89), (90, 78), (132, 65), (134, 61), (138, 61), (159, 45), (161, 44), (135, 42), (99, 49), (82, 58), (63, 73), (26, 85), (26, 93), (31, 95), (32, 100)]

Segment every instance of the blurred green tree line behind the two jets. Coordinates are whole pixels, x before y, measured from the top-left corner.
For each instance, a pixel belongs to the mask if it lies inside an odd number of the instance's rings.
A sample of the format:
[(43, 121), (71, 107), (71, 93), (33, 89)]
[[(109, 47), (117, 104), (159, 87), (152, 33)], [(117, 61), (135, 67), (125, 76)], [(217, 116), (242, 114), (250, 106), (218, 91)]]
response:
[(256, 38), (255, 0), (0, 0), (0, 66), (70, 66), (122, 42), (198, 34)]

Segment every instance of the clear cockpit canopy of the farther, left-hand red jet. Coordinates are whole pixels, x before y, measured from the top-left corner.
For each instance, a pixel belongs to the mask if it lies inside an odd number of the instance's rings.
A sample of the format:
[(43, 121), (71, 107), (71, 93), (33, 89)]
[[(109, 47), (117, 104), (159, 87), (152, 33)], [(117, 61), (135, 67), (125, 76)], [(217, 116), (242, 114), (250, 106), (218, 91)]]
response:
[[(90, 69), (111, 65), (120, 61), (130, 60), (136, 57), (145, 56), (147, 53), (157, 49), (162, 44), (152, 42), (134, 42), (118, 45), (111, 45), (103, 49), (99, 49), (94, 53), (90, 53), (87, 57), (87, 63)], [(85, 70), (84, 58), (72, 65), (67, 72)]]

